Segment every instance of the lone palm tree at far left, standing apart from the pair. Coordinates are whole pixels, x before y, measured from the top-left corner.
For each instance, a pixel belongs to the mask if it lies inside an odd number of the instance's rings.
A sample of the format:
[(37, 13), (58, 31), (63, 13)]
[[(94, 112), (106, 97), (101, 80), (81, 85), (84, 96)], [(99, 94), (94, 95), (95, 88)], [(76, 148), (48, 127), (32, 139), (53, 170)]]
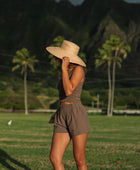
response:
[(12, 71), (15, 71), (21, 68), (21, 74), (24, 74), (24, 104), (25, 104), (25, 114), (28, 114), (28, 102), (27, 102), (27, 67), (34, 72), (34, 63), (37, 63), (38, 60), (35, 56), (30, 56), (29, 51), (26, 48), (22, 48), (16, 52), (16, 55), (12, 61), (16, 64)]

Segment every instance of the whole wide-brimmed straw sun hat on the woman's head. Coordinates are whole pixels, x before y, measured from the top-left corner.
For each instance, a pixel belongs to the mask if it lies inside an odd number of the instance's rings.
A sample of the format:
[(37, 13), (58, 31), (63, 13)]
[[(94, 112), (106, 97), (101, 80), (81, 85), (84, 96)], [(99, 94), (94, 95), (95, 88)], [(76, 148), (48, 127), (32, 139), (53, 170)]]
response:
[(78, 56), (80, 47), (73, 42), (64, 40), (61, 47), (46, 47), (46, 50), (52, 55), (62, 59), (63, 57), (69, 57), (70, 62), (74, 64), (79, 64), (86, 67), (86, 64)]

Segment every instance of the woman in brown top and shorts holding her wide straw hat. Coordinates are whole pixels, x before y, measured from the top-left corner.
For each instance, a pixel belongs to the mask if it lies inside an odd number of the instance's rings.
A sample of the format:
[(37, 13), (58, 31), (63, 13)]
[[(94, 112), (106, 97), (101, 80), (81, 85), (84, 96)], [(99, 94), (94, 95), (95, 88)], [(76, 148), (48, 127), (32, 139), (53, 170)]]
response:
[(72, 139), (73, 153), (79, 170), (86, 170), (85, 149), (90, 124), (80, 101), (85, 80), (85, 63), (77, 56), (79, 46), (64, 40), (61, 47), (47, 51), (62, 60), (62, 79), (59, 82), (60, 107), (54, 117), (54, 134), (50, 160), (55, 170), (64, 170), (63, 154)]

